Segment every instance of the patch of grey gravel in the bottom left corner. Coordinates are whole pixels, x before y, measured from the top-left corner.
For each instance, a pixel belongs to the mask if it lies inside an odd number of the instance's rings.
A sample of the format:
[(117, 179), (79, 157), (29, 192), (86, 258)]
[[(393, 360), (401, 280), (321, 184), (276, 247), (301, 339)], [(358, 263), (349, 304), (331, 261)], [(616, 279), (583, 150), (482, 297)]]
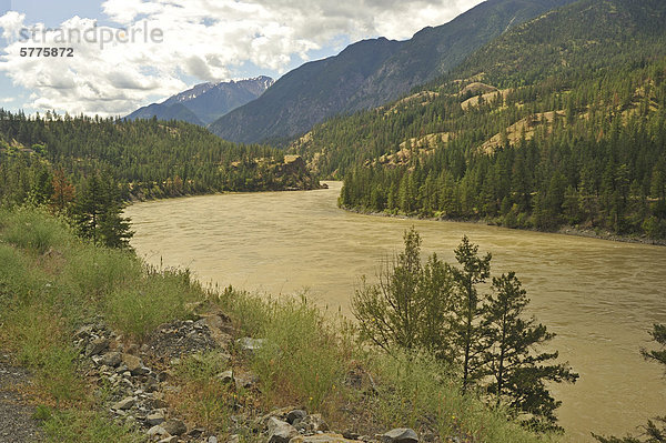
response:
[(0, 443), (28, 443), (39, 437), (34, 411), (19, 393), (29, 383), (29, 374), (0, 351)]

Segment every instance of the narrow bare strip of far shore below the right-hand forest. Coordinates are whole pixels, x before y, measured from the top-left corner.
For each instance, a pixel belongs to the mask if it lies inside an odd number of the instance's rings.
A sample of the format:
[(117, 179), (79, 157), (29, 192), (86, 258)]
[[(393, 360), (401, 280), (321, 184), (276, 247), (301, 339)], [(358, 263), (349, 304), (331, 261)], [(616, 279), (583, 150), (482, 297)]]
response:
[(421, 217), (421, 215), (405, 215), (405, 214), (392, 214), (389, 212), (375, 212), (375, 211), (364, 211), (357, 208), (345, 208), (341, 207), (342, 210), (362, 214), (362, 215), (373, 215), (373, 217), (387, 217), (401, 220), (426, 220), (426, 221), (435, 221), (435, 222), (456, 222), (456, 223), (471, 223), (471, 224), (482, 224), (486, 226), (498, 226), (504, 229), (511, 229), (516, 231), (529, 231), (529, 232), (542, 232), (548, 234), (563, 234), (563, 235), (574, 235), (574, 236), (583, 236), (587, 239), (597, 239), (597, 240), (607, 240), (614, 242), (622, 243), (635, 243), (635, 244), (647, 244), (655, 246), (666, 246), (665, 240), (655, 240), (647, 239), (643, 236), (629, 236), (629, 235), (618, 235), (604, 230), (595, 230), (595, 229), (583, 229), (576, 226), (562, 226), (556, 231), (542, 231), (537, 229), (524, 229), (524, 228), (507, 228), (497, 223), (484, 221), (484, 220), (467, 220), (467, 219), (450, 219), (442, 217)]

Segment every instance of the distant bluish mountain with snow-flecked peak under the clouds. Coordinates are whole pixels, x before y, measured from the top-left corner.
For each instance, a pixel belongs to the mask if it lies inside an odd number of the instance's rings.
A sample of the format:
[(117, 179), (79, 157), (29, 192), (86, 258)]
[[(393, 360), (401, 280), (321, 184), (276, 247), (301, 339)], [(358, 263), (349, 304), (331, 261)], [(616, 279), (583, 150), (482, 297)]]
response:
[(269, 77), (202, 83), (169, 98), (162, 103), (153, 103), (129, 114), (130, 120), (152, 119), (181, 120), (206, 125), (220, 117), (260, 97), (273, 84)]

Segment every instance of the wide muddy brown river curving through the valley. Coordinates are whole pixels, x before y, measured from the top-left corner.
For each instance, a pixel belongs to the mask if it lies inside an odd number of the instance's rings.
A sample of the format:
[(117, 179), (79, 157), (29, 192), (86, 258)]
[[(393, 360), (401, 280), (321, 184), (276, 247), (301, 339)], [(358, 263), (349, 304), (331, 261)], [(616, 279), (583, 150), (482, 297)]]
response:
[(639, 353), (666, 322), (666, 248), (483, 224), (361, 215), (336, 207), (341, 183), (310, 192), (223, 194), (134, 204), (132, 245), (153, 264), (190, 268), (204, 283), (309, 296), (349, 313), (363, 274), (402, 248), (415, 225), (424, 253), (454, 262), (463, 234), (516, 271), (529, 311), (557, 334), (553, 348), (581, 374), (555, 386), (569, 441), (624, 435), (666, 413), (666, 379)]

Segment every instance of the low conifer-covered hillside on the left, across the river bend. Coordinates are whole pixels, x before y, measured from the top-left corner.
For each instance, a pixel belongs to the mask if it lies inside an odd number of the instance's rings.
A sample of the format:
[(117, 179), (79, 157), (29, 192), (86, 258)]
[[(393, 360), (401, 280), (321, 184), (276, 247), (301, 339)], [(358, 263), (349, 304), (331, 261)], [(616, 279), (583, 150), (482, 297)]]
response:
[(319, 188), (297, 157), (225, 142), (184, 122), (28, 119), (0, 110), (0, 202), (43, 192), (57, 170), (73, 184), (110, 172), (125, 199)]

